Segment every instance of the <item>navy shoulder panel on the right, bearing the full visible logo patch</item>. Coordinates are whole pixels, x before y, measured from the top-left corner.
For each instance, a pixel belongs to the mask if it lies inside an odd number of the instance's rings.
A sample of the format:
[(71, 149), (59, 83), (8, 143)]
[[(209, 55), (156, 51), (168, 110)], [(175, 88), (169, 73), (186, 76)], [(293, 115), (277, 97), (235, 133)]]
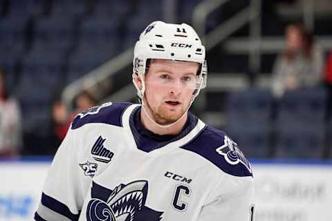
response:
[(211, 126), (206, 126), (192, 142), (181, 148), (201, 155), (230, 175), (252, 176), (251, 166), (237, 144)]

